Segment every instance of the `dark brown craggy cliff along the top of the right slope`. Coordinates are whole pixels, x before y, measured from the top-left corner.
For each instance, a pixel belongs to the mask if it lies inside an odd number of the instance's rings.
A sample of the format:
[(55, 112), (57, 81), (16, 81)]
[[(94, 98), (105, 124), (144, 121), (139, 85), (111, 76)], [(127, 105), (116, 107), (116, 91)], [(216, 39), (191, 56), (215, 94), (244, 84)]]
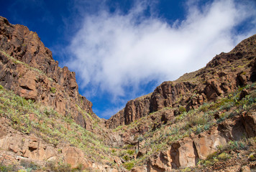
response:
[[(216, 55), (206, 67), (173, 82), (163, 82), (152, 94), (127, 102), (124, 110), (106, 121), (107, 128), (128, 125), (166, 107), (191, 110), (216, 100), (238, 86), (255, 82), (256, 35), (244, 39), (229, 53)], [(175, 115), (180, 112), (176, 110)]]

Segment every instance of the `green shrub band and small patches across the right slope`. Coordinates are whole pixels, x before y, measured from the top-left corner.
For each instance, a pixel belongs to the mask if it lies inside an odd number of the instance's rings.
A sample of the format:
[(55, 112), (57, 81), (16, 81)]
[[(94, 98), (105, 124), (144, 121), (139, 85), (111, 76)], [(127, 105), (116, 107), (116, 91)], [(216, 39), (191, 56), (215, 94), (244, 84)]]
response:
[[(239, 87), (238, 90), (229, 94), (229, 97), (223, 97), (217, 100), (216, 102), (204, 103), (195, 110), (189, 110), (186, 112), (186, 109), (183, 107), (178, 108), (180, 115), (176, 116), (172, 121), (168, 121), (167, 124), (162, 125), (161, 128), (157, 128), (156, 130), (150, 130), (149, 132), (143, 135), (145, 140), (145, 144), (141, 146), (140, 149), (147, 149), (147, 154), (140, 156), (134, 161), (134, 166), (140, 166), (144, 164), (152, 154), (163, 151), (168, 148), (171, 143), (175, 141), (188, 137), (191, 133), (201, 133), (204, 130), (209, 130), (216, 123), (221, 123), (221, 121), (226, 120), (228, 118), (232, 118), (235, 115), (241, 114), (244, 110), (250, 110), (256, 102), (255, 95), (247, 95), (241, 100), (239, 100), (240, 92), (244, 89), (253, 88), (255, 90), (255, 84), (247, 85), (245, 87)], [(235, 109), (235, 110), (234, 110)], [(155, 115), (155, 112), (150, 115)], [(217, 112), (223, 112), (219, 115), (219, 118), (216, 118)], [(147, 118), (140, 118), (134, 123), (147, 123), (149, 125), (153, 125), (150, 120)], [(119, 126), (119, 132), (125, 132), (127, 128), (131, 128), (134, 123), (129, 126)], [(135, 125), (136, 126), (136, 125)], [(227, 149), (242, 149), (245, 148), (248, 143), (243, 143), (242, 141), (230, 141), (227, 145), (222, 146), (221, 151), (225, 151)], [(221, 154), (221, 153), (219, 153)], [(211, 165), (216, 163), (217, 161), (223, 161), (225, 158), (229, 158), (227, 154), (214, 154), (211, 155), (211, 158), (207, 158), (206, 161), (201, 161), (205, 165)], [(219, 157), (218, 157), (219, 156)]]

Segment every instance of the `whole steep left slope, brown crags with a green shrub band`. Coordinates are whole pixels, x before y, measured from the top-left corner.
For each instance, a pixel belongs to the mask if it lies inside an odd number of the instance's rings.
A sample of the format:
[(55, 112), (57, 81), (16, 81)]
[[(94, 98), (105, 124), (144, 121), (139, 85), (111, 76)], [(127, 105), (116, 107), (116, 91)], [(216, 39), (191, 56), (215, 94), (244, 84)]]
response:
[(35, 32), (1, 16), (0, 98), (1, 163), (110, 168), (119, 135), (78, 93), (75, 72), (58, 67)]

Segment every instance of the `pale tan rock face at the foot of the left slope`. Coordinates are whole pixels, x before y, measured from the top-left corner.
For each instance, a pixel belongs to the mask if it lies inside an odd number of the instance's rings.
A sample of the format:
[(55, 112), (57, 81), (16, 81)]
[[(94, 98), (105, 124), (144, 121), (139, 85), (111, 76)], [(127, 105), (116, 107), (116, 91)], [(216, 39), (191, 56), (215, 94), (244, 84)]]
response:
[(9, 127), (5, 118), (0, 118), (0, 124), (0, 155), (6, 155), (6, 151), (11, 151), (15, 153), (14, 161), (24, 159), (45, 163), (46, 161), (57, 162), (63, 159), (73, 168), (76, 168), (78, 164), (82, 164), (84, 167), (92, 166), (91, 161), (86, 160), (83, 156), (83, 151), (76, 147), (65, 145), (55, 148), (36, 135), (24, 135), (15, 131)]

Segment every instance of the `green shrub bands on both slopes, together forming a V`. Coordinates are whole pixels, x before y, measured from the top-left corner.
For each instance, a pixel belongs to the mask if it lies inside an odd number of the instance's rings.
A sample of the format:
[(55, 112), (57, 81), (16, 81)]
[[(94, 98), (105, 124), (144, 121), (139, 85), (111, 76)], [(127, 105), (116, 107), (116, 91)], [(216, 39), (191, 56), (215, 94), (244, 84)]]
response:
[[(246, 87), (255, 87), (255, 85)], [(64, 117), (51, 108), (42, 108), (42, 105), (38, 105), (32, 100), (25, 100), (4, 88), (0, 90), (0, 113), (2, 117), (8, 118), (11, 121), (13, 128), (20, 130), (22, 133), (35, 133), (47, 143), (53, 145), (58, 145), (64, 140), (68, 141), (70, 144), (76, 145), (78, 148), (84, 150), (88, 156), (92, 156), (92, 158), (97, 159), (97, 161), (104, 158), (104, 153), (117, 153), (126, 161), (124, 167), (131, 169), (133, 166), (145, 163), (147, 158), (152, 156), (153, 153), (165, 150), (170, 143), (180, 138), (187, 137), (191, 133), (201, 133), (204, 130), (209, 130), (209, 128), (214, 125), (214, 114), (216, 112), (225, 110), (224, 113), (219, 115), (219, 119), (216, 120), (216, 123), (220, 123), (222, 120), (231, 118), (234, 115), (239, 115), (243, 110), (250, 110), (252, 105), (256, 102), (255, 97), (247, 95), (241, 100), (238, 98), (244, 88), (245, 87), (239, 88), (232, 94), (229, 94), (227, 98), (222, 98), (216, 102), (205, 103), (196, 110), (189, 110), (188, 112), (183, 111), (183, 113), (176, 116), (173, 121), (169, 121), (161, 128), (151, 130), (145, 133), (143, 137), (142, 135), (137, 136), (138, 141), (142, 142), (142, 140), (145, 140), (145, 144), (142, 145), (142, 148), (146, 148), (149, 151), (136, 160), (134, 160), (136, 148), (134, 145), (125, 145), (127, 151), (123, 151), (123, 153), (120, 153), (118, 149), (110, 151), (111, 149), (106, 147), (106, 145), (102, 145), (100, 141), (101, 138), (97, 138), (96, 135), (93, 135), (87, 130), (83, 130), (70, 116), (67, 115)], [(235, 107), (236, 110), (231, 110), (232, 107)], [(152, 113), (151, 115), (155, 115), (156, 113)], [(28, 114), (35, 114), (35, 120), (43, 120), (44, 123), (35, 123), (30, 119)], [(53, 119), (59, 121), (58, 124), (54, 124), (54, 127)], [(145, 119), (146, 118), (141, 118), (135, 123), (142, 123), (142, 120)], [(174, 121), (175, 123), (173, 123)], [(71, 130), (67, 130), (67, 128), (62, 125), (65, 122), (69, 123)], [(153, 125), (153, 123), (151, 123), (151, 125)], [(125, 126), (120, 126), (118, 130), (122, 132), (125, 128)], [(79, 135), (76, 135), (76, 133), (79, 133)], [(219, 150), (223, 152), (242, 149), (246, 148), (247, 144), (248, 143), (230, 141), (227, 145), (220, 146)], [(101, 150), (101, 153), (95, 152), (96, 148)], [(200, 161), (200, 163), (205, 166), (210, 166), (218, 161), (227, 160), (229, 157), (227, 153), (215, 153), (211, 155), (211, 157), (209, 156), (206, 161)], [(251, 156), (250, 159), (254, 159), (253, 157), (254, 156)], [(1, 168), (5, 169), (9, 167)], [(36, 168), (36, 166), (33, 168)], [(58, 168), (60, 169), (60, 167)], [(68, 166), (65, 166), (65, 168), (69, 169)]]

